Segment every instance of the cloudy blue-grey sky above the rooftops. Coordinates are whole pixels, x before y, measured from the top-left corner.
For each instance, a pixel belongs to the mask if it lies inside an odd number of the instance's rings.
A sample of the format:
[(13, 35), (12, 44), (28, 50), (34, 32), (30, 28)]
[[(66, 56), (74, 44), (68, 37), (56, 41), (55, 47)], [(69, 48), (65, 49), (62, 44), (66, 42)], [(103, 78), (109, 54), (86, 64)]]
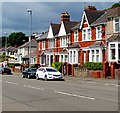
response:
[[(107, 9), (115, 2), (87, 2), (98, 10)], [(30, 35), (30, 15), (27, 9), (32, 9), (32, 32), (48, 30), (50, 23), (60, 23), (62, 12), (69, 12), (72, 21), (80, 21), (84, 2), (3, 2), (2, 3), (2, 33), (23, 32)], [(0, 20), (1, 20), (0, 18)]]

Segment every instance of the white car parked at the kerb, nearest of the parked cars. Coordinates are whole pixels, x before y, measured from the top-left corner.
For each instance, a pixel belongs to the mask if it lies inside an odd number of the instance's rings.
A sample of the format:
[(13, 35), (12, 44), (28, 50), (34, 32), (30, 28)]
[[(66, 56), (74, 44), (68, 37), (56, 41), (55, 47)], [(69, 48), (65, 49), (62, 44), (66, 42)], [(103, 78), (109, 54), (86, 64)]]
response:
[(64, 80), (64, 77), (62, 73), (53, 67), (40, 67), (36, 71), (36, 79), (44, 79), (45, 81), (49, 79)]

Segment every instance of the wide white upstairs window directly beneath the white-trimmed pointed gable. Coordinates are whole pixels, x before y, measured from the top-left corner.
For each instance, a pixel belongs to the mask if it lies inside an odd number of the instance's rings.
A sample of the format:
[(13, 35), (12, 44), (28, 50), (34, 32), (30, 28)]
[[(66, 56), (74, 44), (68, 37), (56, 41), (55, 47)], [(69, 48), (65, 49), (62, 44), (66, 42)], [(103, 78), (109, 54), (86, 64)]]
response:
[[(90, 32), (88, 32), (88, 30), (90, 30)], [(91, 28), (90, 27), (83, 28), (83, 30), (82, 30), (82, 41), (91, 41)]]

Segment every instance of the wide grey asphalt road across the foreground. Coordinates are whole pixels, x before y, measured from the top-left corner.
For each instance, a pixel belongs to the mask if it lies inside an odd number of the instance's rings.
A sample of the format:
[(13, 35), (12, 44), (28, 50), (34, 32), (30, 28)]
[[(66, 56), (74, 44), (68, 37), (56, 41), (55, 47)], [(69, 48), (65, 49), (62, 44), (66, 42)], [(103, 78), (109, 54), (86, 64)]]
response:
[(118, 111), (117, 82), (2, 75), (2, 111)]

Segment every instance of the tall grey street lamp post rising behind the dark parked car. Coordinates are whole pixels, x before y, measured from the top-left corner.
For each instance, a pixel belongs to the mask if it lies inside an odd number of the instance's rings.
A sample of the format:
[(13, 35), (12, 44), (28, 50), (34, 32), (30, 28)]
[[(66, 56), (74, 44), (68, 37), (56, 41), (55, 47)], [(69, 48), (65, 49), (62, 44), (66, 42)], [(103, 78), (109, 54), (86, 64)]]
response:
[(29, 37), (29, 67), (30, 65), (30, 59), (31, 59), (31, 38), (32, 38), (32, 10), (27, 9), (27, 12), (30, 14), (30, 37)]

